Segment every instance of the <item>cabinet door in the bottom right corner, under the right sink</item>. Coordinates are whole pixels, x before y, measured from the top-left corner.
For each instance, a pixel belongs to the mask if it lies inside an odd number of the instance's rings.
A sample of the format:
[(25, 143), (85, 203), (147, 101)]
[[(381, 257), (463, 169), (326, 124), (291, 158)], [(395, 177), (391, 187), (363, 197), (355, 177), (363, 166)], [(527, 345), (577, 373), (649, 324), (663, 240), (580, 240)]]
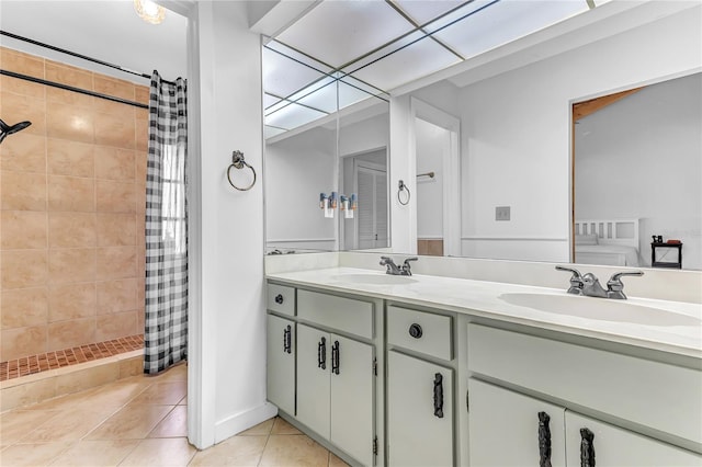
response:
[(566, 411), (566, 440), (569, 466), (590, 467), (596, 463), (598, 467), (702, 465), (699, 454), (570, 411)]

